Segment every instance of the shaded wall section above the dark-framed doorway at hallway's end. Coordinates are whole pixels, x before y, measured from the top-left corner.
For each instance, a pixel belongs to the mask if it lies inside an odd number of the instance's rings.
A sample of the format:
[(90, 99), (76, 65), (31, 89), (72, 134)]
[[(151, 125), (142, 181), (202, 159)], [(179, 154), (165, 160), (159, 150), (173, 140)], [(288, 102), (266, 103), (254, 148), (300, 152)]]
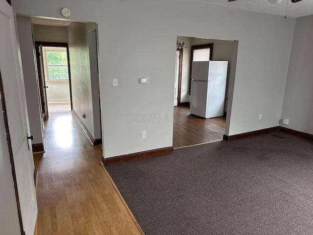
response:
[(34, 40), (38, 42), (67, 43), (67, 27), (33, 25)]

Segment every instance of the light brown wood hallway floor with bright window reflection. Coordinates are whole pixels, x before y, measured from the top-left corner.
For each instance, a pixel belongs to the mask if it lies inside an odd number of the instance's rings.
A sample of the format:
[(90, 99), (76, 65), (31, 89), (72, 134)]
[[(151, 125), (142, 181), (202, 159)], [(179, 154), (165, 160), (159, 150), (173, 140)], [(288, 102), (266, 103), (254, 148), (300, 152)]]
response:
[(144, 234), (71, 112), (49, 115), (45, 143), (34, 154), (38, 235)]

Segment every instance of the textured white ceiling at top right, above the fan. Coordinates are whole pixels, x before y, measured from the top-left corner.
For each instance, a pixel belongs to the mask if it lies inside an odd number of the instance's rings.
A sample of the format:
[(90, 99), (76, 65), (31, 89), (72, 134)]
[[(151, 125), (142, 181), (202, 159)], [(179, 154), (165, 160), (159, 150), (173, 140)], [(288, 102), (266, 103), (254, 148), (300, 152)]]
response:
[[(268, 0), (236, 0), (228, 2), (227, 0), (182, 0), (188, 2), (197, 2), (207, 5), (225, 6), (247, 11), (267, 13), (271, 15), (285, 16), (287, 0), (282, 0), (279, 4), (272, 4)], [(313, 15), (313, 0), (302, 0), (292, 3), (288, 0), (287, 17), (297, 18)]]

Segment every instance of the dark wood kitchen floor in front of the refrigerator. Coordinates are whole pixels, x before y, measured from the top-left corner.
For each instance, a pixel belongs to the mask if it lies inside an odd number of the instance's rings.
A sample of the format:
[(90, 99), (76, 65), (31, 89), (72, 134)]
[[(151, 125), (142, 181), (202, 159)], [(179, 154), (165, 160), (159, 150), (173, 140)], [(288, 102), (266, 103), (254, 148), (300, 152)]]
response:
[(173, 147), (223, 140), (225, 117), (200, 118), (191, 115), (188, 106), (174, 107)]

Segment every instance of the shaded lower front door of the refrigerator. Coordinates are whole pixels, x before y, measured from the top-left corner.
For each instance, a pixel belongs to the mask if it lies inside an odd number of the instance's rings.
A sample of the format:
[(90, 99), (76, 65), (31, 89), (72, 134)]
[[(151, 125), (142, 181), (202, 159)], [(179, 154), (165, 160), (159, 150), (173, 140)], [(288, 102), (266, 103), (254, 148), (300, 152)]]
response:
[(190, 113), (207, 118), (207, 91), (209, 82), (206, 81), (191, 81), (190, 92)]

